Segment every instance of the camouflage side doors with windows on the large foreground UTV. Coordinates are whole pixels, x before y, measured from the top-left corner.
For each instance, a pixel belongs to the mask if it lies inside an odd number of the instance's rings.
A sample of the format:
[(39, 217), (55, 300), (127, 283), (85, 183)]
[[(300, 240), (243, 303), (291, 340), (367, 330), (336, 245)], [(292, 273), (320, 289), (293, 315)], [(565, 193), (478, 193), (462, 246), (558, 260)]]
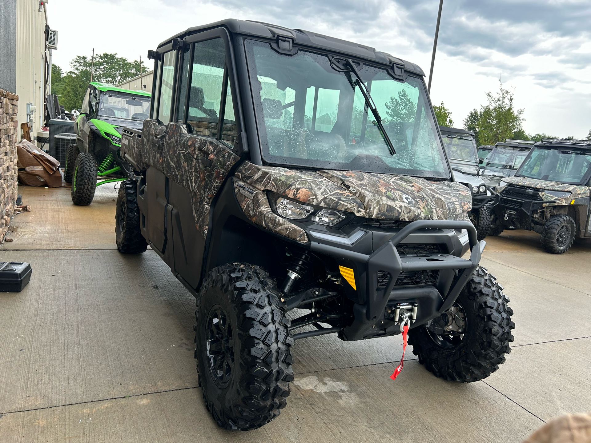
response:
[(232, 152), (236, 122), (228, 44), (225, 30), (207, 31), (161, 56), (157, 119), (144, 124), (148, 133), (142, 136), (151, 165), (145, 197), (148, 237), (193, 288), (200, 282), (210, 207), (239, 160)]

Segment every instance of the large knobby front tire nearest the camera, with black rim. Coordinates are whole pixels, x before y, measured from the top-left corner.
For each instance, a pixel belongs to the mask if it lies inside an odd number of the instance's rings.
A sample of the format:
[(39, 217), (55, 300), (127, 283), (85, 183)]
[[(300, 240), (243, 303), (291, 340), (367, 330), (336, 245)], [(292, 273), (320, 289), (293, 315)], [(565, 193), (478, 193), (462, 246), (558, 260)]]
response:
[(195, 357), (207, 410), (225, 429), (260, 428), (280, 414), (293, 380), (280, 292), (258, 266), (212, 269), (197, 297)]

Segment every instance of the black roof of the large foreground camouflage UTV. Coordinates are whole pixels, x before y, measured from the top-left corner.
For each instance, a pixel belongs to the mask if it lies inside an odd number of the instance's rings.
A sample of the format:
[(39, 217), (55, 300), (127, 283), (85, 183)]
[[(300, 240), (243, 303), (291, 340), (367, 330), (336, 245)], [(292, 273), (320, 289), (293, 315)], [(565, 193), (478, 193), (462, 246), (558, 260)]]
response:
[(297, 45), (347, 54), (351, 57), (363, 58), (374, 63), (385, 64), (388, 66), (398, 64), (404, 66), (404, 70), (407, 72), (418, 74), (420, 76), (425, 75), (423, 70), (416, 64), (402, 60), (401, 58), (393, 57), (388, 53), (376, 51), (375, 48), (366, 45), (340, 40), (340, 38), (329, 37), (328, 35), (317, 34), (316, 32), (284, 28), (282, 26), (258, 21), (237, 20), (234, 18), (227, 18), (215, 23), (189, 28), (186, 31), (179, 32), (178, 34), (173, 35), (173, 37), (163, 41), (158, 45), (158, 48), (172, 43), (174, 38), (184, 38), (188, 35), (196, 34), (196, 32), (219, 27), (225, 27), (233, 34), (251, 35), (253, 37), (267, 38), (269, 40), (276, 40), (278, 37), (287, 37), (293, 39), (293, 43)]

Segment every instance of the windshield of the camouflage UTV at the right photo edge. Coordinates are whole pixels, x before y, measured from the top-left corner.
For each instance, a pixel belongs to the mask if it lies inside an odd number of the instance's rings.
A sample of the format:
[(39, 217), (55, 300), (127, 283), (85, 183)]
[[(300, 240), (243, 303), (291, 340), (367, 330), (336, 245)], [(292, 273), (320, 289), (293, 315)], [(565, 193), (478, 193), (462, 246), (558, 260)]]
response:
[(591, 165), (591, 150), (534, 146), (519, 168), (519, 177), (580, 184)]

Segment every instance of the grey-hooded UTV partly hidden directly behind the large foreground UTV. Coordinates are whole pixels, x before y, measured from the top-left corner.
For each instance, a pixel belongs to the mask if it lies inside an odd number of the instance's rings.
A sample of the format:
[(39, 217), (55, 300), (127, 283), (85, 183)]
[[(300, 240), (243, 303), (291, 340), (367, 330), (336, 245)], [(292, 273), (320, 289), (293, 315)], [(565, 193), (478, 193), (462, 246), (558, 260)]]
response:
[(447, 126), (439, 126), (439, 129), (447, 158), (452, 165), (454, 180), (465, 185), (472, 193), (472, 209), (468, 216), (476, 227), (478, 240), (483, 240), (491, 226), (491, 216), (486, 203), (495, 196), (486, 189), (482, 178), (478, 177), (478, 154), (474, 133)]

